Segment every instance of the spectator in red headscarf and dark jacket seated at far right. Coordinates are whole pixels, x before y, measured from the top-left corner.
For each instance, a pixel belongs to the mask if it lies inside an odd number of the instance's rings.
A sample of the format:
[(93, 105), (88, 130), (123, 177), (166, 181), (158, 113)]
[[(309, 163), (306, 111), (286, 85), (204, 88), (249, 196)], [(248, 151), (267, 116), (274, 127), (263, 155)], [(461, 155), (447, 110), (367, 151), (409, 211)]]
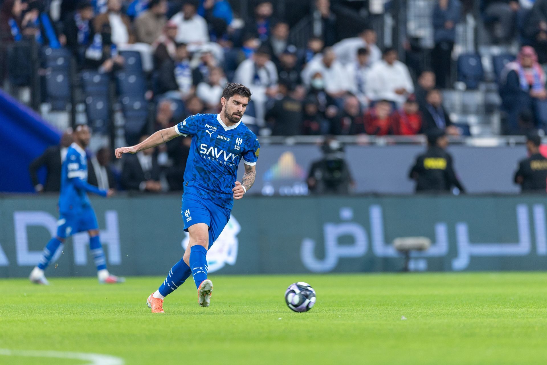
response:
[(502, 108), (507, 113), (509, 133), (520, 132), (520, 114), (530, 113), (537, 128), (547, 129), (547, 91), (545, 72), (537, 61), (532, 47), (520, 50), (517, 60), (503, 68), (499, 94)]

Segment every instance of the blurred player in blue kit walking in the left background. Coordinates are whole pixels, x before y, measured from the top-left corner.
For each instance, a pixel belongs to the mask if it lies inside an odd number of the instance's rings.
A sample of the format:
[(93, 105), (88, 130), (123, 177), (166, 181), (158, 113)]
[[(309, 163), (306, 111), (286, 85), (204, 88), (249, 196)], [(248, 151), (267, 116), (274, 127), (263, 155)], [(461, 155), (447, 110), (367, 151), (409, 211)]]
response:
[(99, 229), (95, 212), (91, 207), (88, 192), (101, 196), (112, 196), (114, 190), (101, 190), (88, 183), (88, 161), (85, 147), (88, 146), (91, 132), (87, 125), (79, 125), (73, 134), (74, 142), (68, 147), (67, 156), (61, 167), (61, 195), (59, 196), (60, 217), (57, 221), (57, 235), (45, 246), (42, 258), (32, 270), (29, 279), (33, 283), (48, 285), (44, 270), (48, 267), (57, 248), (67, 237), (83, 231), (89, 234), (89, 249), (97, 266), (97, 277), (101, 283), (118, 283), (123, 277), (110, 275), (106, 268), (106, 258), (99, 239)]

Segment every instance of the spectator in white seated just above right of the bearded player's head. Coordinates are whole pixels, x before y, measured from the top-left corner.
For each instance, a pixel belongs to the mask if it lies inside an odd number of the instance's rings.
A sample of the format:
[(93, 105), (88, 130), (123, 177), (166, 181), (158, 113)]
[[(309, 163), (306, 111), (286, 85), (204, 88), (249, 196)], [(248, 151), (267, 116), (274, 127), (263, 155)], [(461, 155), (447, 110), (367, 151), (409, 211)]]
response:
[(240, 63), (234, 82), (246, 85), (253, 93), (256, 118), (260, 125), (264, 120), (265, 102), (277, 94), (277, 68), (270, 60), (270, 50), (260, 47), (252, 59)]

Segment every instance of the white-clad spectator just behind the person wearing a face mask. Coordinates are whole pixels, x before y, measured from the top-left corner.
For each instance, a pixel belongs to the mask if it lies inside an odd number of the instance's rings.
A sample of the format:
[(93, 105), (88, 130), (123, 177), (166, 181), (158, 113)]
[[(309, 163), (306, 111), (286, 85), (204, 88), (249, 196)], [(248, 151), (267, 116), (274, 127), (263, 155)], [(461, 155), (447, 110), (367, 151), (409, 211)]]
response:
[(315, 57), (306, 65), (302, 71), (302, 79), (310, 85), (311, 77), (316, 73), (321, 74), (325, 91), (334, 99), (341, 98), (350, 89), (344, 67), (336, 60), (336, 54), (331, 47), (323, 50), (323, 57)]

